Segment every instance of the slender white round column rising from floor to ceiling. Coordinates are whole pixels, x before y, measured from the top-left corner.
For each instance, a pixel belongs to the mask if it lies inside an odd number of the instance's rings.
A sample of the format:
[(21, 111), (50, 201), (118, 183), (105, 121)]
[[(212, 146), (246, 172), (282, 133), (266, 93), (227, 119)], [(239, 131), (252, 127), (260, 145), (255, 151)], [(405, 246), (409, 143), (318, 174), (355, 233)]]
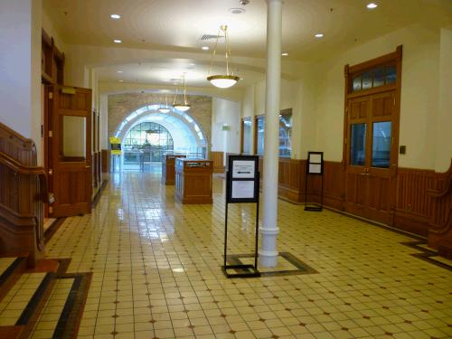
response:
[(267, 80), (260, 265), (278, 264), (278, 146), (282, 0), (267, 0)]

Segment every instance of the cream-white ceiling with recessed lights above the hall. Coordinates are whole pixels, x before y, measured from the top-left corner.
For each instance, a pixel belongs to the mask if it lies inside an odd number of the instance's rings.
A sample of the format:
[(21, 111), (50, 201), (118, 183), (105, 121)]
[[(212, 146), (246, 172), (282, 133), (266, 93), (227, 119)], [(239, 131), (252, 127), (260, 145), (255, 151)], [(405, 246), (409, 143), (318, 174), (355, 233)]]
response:
[[(378, 0), (374, 10), (366, 8), (369, 2), (284, 0), (282, 49), (289, 55), (283, 60), (322, 60), (409, 24), (432, 28), (452, 24), (452, 0)], [(210, 86), (205, 77), (215, 40), (202, 42), (201, 37), (217, 34), (221, 24), (228, 24), (233, 58), (266, 55), (265, 0), (250, 0), (245, 6), (239, 0), (43, 0), (43, 6), (68, 44), (168, 52), (168, 58), (99, 67), (102, 81), (171, 85), (185, 72), (188, 85)], [(245, 12), (231, 14), (231, 8)], [(112, 20), (110, 14), (122, 18)], [(325, 37), (316, 39), (315, 33)], [(115, 44), (113, 39), (123, 42)], [(211, 51), (202, 51), (203, 45)], [(174, 52), (190, 57), (174, 58)], [(255, 66), (252, 60), (240, 64), (242, 86), (263, 77)]]

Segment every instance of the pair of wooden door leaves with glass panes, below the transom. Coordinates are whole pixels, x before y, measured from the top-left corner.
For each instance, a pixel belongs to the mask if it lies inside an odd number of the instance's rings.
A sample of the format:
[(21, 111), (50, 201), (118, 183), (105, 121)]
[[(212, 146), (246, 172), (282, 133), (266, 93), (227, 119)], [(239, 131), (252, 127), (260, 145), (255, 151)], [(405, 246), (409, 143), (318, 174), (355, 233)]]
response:
[(397, 169), (395, 91), (348, 100), (345, 211), (391, 224)]

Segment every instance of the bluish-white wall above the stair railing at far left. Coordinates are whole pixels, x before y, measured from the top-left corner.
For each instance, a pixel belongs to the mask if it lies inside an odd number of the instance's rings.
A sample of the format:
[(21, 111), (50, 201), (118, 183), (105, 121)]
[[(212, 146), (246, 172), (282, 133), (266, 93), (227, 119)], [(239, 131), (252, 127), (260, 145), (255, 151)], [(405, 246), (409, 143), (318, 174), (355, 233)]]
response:
[(41, 160), (41, 0), (0, 0), (0, 121)]

